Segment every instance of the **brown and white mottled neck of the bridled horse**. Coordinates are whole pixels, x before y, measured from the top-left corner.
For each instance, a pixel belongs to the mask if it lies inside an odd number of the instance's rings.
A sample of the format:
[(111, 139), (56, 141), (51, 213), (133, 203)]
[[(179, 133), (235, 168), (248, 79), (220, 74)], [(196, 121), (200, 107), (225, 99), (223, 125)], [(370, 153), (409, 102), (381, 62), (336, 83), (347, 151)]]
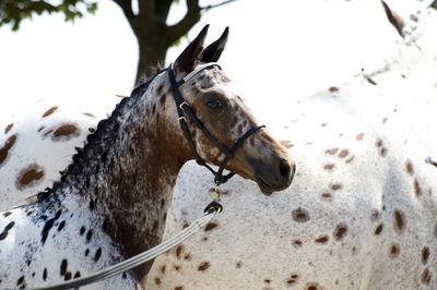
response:
[(126, 257), (161, 242), (178, 171), (190, 157), (180, 146), (185, 141), (165, 77), (99, 123), (61, 183), (60, 192), (88, 203)]

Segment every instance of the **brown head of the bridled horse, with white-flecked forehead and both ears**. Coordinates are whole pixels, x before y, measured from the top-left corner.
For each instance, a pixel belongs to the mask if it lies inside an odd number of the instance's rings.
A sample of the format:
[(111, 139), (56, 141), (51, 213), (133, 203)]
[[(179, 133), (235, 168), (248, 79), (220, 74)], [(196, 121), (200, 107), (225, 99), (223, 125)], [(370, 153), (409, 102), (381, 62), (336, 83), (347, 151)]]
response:
[(193, 116), (178, 117), (187, 123), (191, 147), (196, 147), (191, 150), (198, 162), (203, 159), (218, 166), (218, 171), (225, 167), (253, 180), (264, 194), (284, 190), (295, 173), (293, 158), (267, 129), (257, 125), (232, 81), (216, 64), (226, 46), (228, 28), (203, 49), (206, 32), (208, 25), (169, 69), (175, 78), (174, 95), (179, 94), (175, 92), (177, 86), (184, 96), (179, 110)]

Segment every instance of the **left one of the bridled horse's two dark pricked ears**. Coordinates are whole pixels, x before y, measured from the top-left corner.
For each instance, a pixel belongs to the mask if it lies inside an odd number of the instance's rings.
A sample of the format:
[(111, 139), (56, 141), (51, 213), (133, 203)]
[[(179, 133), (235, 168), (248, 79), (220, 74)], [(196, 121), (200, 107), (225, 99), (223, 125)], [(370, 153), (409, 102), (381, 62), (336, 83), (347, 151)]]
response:
[(180, 53), (180, 56), (176, 59), (174, 64), (175, 74), (179, 77), (184, 77), (194, 69), (196, 61), (203, 49), (203, 41), (206, 37), (209, 26), (210, 25), (205, 25), (199, 33), (198, 37), (196, 37), (194, 40), (192, 40), (191, 44), (189, 44), (182, 53)]

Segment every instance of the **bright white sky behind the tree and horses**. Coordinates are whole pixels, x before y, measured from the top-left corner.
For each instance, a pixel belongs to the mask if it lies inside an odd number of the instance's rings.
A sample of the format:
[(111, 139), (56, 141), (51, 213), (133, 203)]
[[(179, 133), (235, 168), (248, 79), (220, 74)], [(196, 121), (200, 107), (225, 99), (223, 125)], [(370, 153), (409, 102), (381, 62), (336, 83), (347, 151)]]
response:
[[(185, 13), (179, 2), (170, 23)], [(402, 12), (414, 0), (388, 2)], [(208, 41), (231, 27), (220, 62), (255, 111), (274, 112), (281, 98), (305, 97), (375, 69), (400, 41), (379, 0), (238, 0), (205, 13), (190, 38), (206, 23)], [(0, 39), (3, 117), (42, 98), (106, 109), (105, 101), (132, 88), (137, 41), (113, 1), (101, 1), (96, 15), (74, 24), (45, 15), (24, 21), (16, 33), (4, 26)], [(167, 63), (186, 44), (169, 50)]]

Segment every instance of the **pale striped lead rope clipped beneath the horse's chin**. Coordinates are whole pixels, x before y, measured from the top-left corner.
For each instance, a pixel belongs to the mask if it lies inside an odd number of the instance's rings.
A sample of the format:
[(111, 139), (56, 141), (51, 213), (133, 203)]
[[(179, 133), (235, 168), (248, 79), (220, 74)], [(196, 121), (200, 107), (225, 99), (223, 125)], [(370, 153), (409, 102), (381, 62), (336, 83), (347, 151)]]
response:
[(172, 239), (143, 253), (140, 253), (116, 265), (109, 266), (106, 269), (94, 273), (90, 276), (54, 286), (31, 288), (31, 290), (60, 290), (60, 289), (78, 288), (133, 269), (134, 267), (140, 266), (145, 262), (151, 261), (152, 258), (157, 257), (158, 255), (167, 252), (168, 250), (175, 247), (176, 245), (180, 244), (181, 242), (184, 242), (185, 240), (197, 233), (201, 228), (203, 228), (208, 222), (210, 222), (216, 214), (223, 212), (223, 206), (218, 203), (220, 202), (218, 191), (216, 191), (216, 195), (213, 196), (214, 196), (213, 202), (211, 202), (205, 207), (205, 209), (203, 210), (204, 214), (200, 216), (197, 220), (194, 220), (188, 228), (184, 229), (182, 231), (180, 231), (179, 234), (173, 237)]

